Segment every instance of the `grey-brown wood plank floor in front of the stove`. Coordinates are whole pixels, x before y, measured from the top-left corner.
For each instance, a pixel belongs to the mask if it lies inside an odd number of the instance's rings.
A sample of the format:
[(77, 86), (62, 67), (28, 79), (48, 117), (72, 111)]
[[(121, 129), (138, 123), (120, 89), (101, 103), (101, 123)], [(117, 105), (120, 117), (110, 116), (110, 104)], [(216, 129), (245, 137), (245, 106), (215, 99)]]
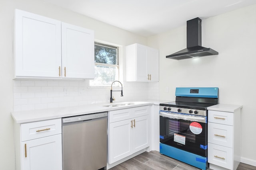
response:
[[(158, 151), (143, 152), (110, 170), (200, 170)], [(210, 170), (210, 169), (209, 169)], [(240, 163), (237, 170), (256, 170), (255, 166)]]

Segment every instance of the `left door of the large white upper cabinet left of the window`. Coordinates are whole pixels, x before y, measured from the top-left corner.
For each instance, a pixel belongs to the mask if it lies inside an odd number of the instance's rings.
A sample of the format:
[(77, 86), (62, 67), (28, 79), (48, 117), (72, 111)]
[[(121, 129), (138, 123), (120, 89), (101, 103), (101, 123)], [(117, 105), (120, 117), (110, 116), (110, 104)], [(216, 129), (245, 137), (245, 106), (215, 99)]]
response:
[(15, 10), (15, 76), (60, 77), (61, 22)]

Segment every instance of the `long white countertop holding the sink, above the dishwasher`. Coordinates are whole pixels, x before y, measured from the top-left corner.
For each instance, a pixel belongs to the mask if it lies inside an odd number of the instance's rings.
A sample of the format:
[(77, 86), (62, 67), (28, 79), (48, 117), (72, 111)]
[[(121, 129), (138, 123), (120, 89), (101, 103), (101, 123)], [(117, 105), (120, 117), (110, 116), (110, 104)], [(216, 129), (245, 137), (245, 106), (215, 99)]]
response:
[[(106, 105), (122, 104), (122, 103), (134, 103), (127, 106), (116, 106), (116, 107), (106, 107)], [(30, 110), (30, 111), (15, 111), (11, 115), (15, 123), (28, 123), (33, 121), (43, 121), (48, 119), (56, 119), (62, 117), (84, 115), (90, 113), (98, 113), (104, 111), (126, 109), (130, 107), (139, 107), (147, 105), (159, 105), (160, 101), (150, 101), (146, 102), (119, 102), (119, 103), (103, 103), (103, 104), (90, 104), (84, 106), (72, 106), (72, 107), (60, 107), (52, 109), (40, 109), (40, 110)]]

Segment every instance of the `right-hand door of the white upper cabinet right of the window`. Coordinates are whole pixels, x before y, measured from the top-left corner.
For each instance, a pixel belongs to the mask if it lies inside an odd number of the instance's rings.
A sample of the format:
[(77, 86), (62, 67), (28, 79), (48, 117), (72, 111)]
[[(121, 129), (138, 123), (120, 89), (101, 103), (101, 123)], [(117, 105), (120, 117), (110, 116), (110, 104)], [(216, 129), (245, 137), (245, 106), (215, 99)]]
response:
[(147, 48), (147, 76), (149, 81), (159, 81), (159, 53), (158, 50)]

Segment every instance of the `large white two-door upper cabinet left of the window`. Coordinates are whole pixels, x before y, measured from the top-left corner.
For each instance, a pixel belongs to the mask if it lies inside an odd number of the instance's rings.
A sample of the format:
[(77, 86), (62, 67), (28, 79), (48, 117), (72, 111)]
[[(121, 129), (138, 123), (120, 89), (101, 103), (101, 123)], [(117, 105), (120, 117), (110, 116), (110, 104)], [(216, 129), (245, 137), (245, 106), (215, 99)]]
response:
[(94, 78), (94, 31), (15, 10), (14, 78)]

